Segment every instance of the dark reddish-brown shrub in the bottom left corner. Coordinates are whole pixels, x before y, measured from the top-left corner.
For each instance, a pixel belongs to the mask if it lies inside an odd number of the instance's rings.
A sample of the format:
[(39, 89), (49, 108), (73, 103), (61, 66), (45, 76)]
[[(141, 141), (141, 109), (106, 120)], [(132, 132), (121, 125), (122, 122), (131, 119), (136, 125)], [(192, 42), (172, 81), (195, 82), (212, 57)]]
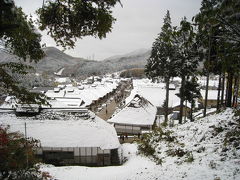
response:
[(9, 126), (0, 125), (0, 179), (11, 180), (40, 180), (49, 178), (41, 174), (39, 167), (35, 166), (37, 159), (34, 148), (38, 141), (25, 139), (18, 132), (9, 132)]

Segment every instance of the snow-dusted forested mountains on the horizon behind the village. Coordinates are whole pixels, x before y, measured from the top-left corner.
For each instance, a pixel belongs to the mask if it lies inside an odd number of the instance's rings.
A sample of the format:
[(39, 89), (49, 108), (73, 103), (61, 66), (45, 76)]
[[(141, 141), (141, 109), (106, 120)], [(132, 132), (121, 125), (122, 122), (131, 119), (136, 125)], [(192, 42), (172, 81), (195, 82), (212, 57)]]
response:
[[(54, 47), (43, 49), (46, 56), (37, 64), (32, 64), (39, 73), (53, 74), (61, 70), (63, 76), (89, 76), (111, 73), (131, 68), (142, 68), (150, 56), (150, 50), (140, 49), (125, 55), (107, 58), (103, 61), (75, 58)], [(13, 55), (0, 53), (0, 62), (17, 61)]]

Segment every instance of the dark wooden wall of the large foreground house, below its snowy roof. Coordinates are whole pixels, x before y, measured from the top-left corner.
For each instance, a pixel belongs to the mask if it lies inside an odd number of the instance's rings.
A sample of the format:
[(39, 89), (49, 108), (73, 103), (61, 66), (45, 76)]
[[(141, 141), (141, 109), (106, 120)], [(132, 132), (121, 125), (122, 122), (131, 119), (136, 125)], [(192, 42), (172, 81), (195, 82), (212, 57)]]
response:
[(117, 149), (101, 150), (98, 147), (75, 147), (75, 148), (37, 148), (36, 154), (43, 162), (54, 165), (87, 165), (109, 166), (118, 165), (120, 160)]

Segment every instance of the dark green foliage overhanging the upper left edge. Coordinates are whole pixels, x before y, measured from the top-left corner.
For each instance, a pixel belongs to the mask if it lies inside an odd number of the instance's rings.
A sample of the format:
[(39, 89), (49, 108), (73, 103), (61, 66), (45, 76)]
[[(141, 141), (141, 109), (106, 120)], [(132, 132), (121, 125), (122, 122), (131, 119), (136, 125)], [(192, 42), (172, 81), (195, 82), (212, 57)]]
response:
[(36, 33), (33, 21), (28, 20), (22, 9), (15, 7), (12, 1), (1, 1), (0, 15), (0, 50), (19, 59), (19, 62), (0, 63), (1, 93), (16, 96), (21, 102), (46, 104), (43, 95), (30, 93), (13, 76), (27, 74), (32, 69), (27, 62), (37, 62), (44, 56), (41, 35)]

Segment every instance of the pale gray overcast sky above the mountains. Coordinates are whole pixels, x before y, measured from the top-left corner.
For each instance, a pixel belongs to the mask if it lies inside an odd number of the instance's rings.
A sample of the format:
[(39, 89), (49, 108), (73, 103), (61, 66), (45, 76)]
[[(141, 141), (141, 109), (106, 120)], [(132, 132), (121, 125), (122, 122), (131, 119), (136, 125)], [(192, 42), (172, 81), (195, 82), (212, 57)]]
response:
[[(65, 53), (102, 60), (110, 56), (126, 54), (137, 49), (150, 49), (161, 30), (166, 11), (170, 11), (173, 25), (178, 25), (186, 16), (188, 20), (198, 13), (202, 0), (121, 0), (123, 8), (117, 5), (113, 15), (117, 19), (107, 38), (99, 40), (84, 37), (76, 42), (73, 50)], [(26, 14), (33, 14), (42, 6), (42, 0), (15, 0)], [(55, 46), (51, 37), (42, 32), (42, 42)], [(60, 47), (58, 47), (61, 49)]]

